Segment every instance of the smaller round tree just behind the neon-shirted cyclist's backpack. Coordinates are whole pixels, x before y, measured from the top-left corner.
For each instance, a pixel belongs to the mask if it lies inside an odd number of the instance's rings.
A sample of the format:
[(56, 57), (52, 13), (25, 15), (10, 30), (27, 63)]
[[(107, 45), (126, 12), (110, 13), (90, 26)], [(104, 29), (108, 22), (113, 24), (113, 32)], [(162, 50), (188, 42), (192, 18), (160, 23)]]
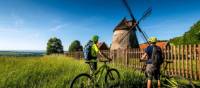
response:
[(74, 51), (82, 51), (83, 47), (78, 40), (74, 40), (71, 45), (69, 46), (69, 52), (74, 52)]

